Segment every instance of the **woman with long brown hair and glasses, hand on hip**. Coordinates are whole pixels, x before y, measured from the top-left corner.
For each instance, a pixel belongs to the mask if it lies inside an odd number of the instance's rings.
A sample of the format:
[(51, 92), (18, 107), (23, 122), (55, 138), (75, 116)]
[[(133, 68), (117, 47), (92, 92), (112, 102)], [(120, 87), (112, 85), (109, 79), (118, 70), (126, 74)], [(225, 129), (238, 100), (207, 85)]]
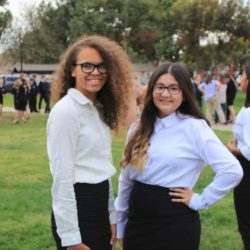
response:
[[(207, 164), (215, 178), (201, 194), (193, 193)], [(197, 210), (221, 199), (242, 177), (239, 162), (197, 106), (189, 73), (179, 63), (162, 64), (151, 76), (122, 165), (115, 207), (124, 250), (197, 250)]]

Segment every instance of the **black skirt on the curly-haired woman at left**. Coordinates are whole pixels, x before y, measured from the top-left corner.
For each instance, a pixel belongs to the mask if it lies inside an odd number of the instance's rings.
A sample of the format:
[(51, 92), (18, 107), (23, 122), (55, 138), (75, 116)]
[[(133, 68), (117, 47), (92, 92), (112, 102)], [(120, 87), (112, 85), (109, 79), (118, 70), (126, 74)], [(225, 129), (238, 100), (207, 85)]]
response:
[[(74, 190), (82, 242), (91, 250), (110, 250), (111, 228), (108, 211), (108, 181), (99, 184), (77, 183), (74, 185)], [(56, 232), (53, 211), (51, 225), (57, 249), (66, 250), (67, 247), (61, 246), (61, 239)]]

